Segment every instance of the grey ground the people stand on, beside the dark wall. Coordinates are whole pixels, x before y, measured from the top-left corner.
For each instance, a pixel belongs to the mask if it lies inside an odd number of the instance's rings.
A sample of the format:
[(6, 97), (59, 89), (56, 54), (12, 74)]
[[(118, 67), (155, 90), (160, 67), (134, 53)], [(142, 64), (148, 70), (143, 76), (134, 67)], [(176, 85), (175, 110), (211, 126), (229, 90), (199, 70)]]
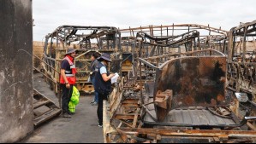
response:
[[(41, 74), (35, 74), (34, 88), (55, 103), (57, 96), (45, 83)], [(72, 118), (57, 116), (35, 128), (33, 134), (21, 143), (103, 143), (103, 129), (98, 127), (97, 107), (91, 106), (92, 95), (81, 95)], [(57, 104), (58, 106), (58, 104)], [(20, 143), (18, 142), (18, 143)]]

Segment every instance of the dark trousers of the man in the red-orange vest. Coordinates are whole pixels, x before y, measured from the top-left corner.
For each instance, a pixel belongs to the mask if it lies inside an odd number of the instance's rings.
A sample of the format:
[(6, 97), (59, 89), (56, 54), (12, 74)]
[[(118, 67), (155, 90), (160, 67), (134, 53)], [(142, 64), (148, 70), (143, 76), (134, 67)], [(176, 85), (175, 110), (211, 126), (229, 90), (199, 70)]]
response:
[(73, 93), (73, 85), (70, 85), (70, 89), (67, 89), (66, 84), (61, 84), (61, 88), (63, 90), (62, 110), (63, 110), (63, 113), (67, 113), (67, 112), (69, 112), (68, 103), (69, 103), (71, 95)]

